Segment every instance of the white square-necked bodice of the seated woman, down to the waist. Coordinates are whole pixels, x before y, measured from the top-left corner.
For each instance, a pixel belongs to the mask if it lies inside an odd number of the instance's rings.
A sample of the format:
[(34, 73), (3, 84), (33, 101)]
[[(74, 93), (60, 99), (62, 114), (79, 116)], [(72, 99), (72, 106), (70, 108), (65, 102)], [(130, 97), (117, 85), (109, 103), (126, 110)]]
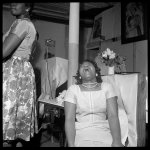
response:
[(77, 105), (77, 122), (97, 122), (106, 119), (106, 99), (116, 96), (109, 83), (102, 82), (99, 91), (81, 91), (79, 85), (69, 87), (64, 101)]

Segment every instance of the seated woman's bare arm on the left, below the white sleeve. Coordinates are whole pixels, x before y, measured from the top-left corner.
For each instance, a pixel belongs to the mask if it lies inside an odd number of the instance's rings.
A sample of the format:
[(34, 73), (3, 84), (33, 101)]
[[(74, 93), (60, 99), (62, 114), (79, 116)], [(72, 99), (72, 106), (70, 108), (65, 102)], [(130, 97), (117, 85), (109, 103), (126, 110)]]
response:
[(70, 102), (64, 102), (65, 108), (65, 133), (69, 147), (74, 147), (75, 142), (75, 114), (76, 105)]

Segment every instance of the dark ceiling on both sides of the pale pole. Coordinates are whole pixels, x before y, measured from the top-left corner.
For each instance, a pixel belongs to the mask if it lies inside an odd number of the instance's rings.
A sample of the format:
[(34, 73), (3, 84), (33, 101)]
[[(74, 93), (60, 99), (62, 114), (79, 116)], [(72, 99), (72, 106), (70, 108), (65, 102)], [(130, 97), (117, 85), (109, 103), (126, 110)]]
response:
[[(94, 17), (119, 2), (80, 2), (80, 23), (86, 27), (93, 26)], [(3, 3), (3, 8), (9, 8), (8, 3)], [(34, 19), (46, 20), (57, 23), (69, 23), (70, 3), (34, 3)]]

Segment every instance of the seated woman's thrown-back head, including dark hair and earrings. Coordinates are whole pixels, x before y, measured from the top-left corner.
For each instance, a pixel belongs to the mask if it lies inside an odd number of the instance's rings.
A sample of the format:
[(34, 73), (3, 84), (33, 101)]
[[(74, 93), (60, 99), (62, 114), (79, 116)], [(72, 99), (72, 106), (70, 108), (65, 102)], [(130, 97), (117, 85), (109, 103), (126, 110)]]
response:
[(84, 82), (101, 83), (100, 68), (98, 68), (94, 61), (84, 60), (79, 66), (75, 79), (77, 80), (76, 84), (82, 84)]

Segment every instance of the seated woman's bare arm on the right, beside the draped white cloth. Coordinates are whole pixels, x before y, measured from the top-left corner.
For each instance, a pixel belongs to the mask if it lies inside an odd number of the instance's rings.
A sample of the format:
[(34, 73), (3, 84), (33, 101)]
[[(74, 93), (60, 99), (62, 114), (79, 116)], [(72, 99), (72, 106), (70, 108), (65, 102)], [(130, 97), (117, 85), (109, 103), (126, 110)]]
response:
[(108, 98), (106, 100), (106, 103), (107, 103), (108, 122), (113, 138), (112, 147), (123, 147), (124, 145), (121, 143), (121, 130), (118, 118), (117, 96)]

